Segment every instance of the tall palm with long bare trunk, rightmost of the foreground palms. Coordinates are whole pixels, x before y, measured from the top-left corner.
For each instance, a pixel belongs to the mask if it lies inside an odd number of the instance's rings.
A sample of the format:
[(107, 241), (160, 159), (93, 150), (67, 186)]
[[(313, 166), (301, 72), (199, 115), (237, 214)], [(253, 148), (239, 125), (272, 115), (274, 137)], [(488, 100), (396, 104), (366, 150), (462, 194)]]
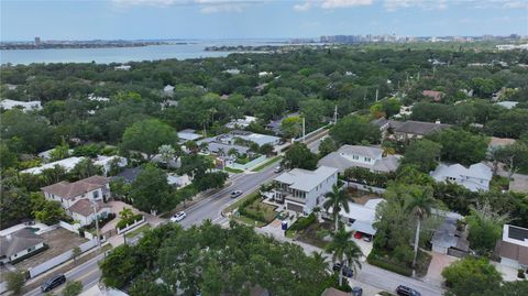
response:
[(430, 189), (414, 190), (405, 205), (405, 210), (416, 217), (416, 234), (415, 234), (415, 257), (413, 259), (413, 267), (416, 265), (418, 256), (418, 245), (420, 243), (420, 226), (421, 221), (431, 215), (431, 208), (436, 204)]

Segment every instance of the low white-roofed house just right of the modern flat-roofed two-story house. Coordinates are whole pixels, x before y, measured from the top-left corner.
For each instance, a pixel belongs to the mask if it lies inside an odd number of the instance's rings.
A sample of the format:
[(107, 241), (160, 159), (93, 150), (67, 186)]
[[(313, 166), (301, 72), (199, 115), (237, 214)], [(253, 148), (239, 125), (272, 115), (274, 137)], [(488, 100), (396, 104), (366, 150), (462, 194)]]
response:
[(370, 199), (365, 205), (349, 201), (349, 211), (341, 209), (341, 220), (348, 231), (359, 231), (364, 234), (374, 235), (376, 229), (374, 222), (376, 220), (376, 208), (380, 204), (385, 202), (383, 198)]

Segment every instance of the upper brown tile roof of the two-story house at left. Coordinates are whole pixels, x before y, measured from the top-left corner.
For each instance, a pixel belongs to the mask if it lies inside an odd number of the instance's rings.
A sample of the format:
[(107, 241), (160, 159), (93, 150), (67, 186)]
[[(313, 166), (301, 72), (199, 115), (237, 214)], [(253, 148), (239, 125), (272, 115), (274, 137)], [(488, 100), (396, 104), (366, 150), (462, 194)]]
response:
[(86, 179), (69, 183), (66, 180), (42, 187), (45, 193), (59, 196), (62, 198), (74, 198), (91, 190), (101, 188), (108, 184), (108, 178), (102, 176), (91, 176)]

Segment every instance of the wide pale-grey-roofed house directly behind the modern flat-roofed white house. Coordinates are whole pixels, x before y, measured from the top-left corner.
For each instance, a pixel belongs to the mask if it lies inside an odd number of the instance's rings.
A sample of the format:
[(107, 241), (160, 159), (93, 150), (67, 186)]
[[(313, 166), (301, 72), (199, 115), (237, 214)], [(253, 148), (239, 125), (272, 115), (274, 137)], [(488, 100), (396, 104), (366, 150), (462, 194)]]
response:
[(373, 173), (394, 172), (399, 166), (400, 155), (383, 156), (383, 149), (376, 146), (342, 145), (321, 160), (319, 165), (336, 167), (343, 173), (349, 167), (364, 167)]

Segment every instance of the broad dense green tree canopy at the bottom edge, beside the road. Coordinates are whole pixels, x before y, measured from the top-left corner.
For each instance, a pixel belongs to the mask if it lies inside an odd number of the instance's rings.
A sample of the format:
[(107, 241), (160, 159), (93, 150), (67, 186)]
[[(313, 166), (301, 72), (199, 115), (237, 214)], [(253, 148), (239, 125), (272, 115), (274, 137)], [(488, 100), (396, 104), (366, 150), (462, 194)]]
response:
[(296, 244), (244, 226), (223, 229), (207, 221), (188, 230), (170, 223), (151, 230), (136, 245), (116, 248), (100, 267), (106, 285), (132, 284), (131, 295), (174, 295), (177, 289), (246, 295), (255, 286), (273, 295), (320, 295), (331, 283), (326, 264)]

